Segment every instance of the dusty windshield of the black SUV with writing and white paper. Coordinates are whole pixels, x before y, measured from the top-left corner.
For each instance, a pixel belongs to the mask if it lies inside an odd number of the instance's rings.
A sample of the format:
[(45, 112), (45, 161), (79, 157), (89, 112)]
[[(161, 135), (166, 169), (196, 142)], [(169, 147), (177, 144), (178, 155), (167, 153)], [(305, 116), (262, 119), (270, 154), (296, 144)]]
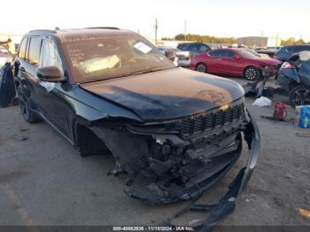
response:
[(80, 37), (62, 43), (74, 82), (100, 81), (175, 67), (135, 34)]

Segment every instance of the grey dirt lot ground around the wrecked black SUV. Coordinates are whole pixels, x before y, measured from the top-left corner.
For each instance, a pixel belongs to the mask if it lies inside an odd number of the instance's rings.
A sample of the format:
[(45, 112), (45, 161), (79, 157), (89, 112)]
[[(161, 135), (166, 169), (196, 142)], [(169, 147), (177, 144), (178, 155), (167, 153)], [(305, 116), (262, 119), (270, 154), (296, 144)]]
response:
[[(310, 138), (296, 135), (310, 129), (262, 119), (273, 109), (252, 102), (246, 98), (260, 127), (262, 152), (235, 213), (222, 225), (310, 226), (297, 211), (310, 210)], [(123, 192), (123, 176), (107, 175), (111, 156), (81, 158), (46, 123), (27, 124), (19, 107), (0, 109), (0, 119), (0, 225), (159, 225), (189, 204), (143, 205)], [(201, 201), (218, 198), (244, 160)], [(187, 214), (181, 221), (204, 216)]]

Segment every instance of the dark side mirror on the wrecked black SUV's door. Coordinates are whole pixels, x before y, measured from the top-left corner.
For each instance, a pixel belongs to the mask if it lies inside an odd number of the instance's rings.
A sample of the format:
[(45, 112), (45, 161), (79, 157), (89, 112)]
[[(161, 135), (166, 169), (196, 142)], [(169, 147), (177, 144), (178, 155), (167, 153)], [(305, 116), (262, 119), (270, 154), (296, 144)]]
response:
[(36, 76), (41, 81), (63, 82), (66, 81), (57, 66), (41, 67), (36, 71)]

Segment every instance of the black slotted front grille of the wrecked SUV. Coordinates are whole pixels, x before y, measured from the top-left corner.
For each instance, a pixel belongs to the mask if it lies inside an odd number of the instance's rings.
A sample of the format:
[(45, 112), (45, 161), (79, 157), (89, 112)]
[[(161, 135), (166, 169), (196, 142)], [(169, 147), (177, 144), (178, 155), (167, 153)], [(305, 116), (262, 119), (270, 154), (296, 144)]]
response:
[(182, 135), (194, 135), (207, 129), (219, 128), (229, 125), (236, 120), (244, 118), (244, 104), (237, 104), (226, 110), (193, 116), (181, 121)]

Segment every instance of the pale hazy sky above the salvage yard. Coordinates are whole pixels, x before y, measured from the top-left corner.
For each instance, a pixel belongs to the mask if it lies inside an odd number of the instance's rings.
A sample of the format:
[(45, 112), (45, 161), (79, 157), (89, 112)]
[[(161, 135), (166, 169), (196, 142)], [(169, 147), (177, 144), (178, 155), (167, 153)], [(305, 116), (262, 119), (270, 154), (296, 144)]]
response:
[[(4, 6), (4, 3), (2, 4)], [(263, 35), (310, 41), (306, 0), (14, 0), (1, 7), (0, 35), (37, 28), (115, 26), (159, 38), (184, 32), (215, 36)]]

